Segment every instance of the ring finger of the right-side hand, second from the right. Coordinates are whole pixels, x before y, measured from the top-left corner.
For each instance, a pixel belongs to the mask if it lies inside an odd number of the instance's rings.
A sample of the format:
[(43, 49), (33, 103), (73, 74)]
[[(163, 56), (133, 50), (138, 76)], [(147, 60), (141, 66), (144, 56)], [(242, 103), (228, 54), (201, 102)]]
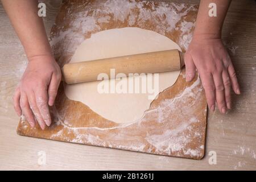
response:
[(224, 94), (225, 94), (225, 102), (226, 102), (226, 107), (228, 109), (231, 109), (231, 83), (230, 83), (230, 78), (229, 74), (227, 71), (222, 72), (222, 80), (224, 84)]

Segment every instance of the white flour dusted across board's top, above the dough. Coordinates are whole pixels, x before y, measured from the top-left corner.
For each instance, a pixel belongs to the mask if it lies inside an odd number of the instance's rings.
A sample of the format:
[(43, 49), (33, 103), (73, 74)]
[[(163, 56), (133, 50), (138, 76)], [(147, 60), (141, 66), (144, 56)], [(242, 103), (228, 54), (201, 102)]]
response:
[(184, 18), (190, 10), (196, 10), (196, 8), (195, 6), (185, 8), (187, 5), (183, 3), (180, 5), (169, 4), (161, 2), (156, 6), (154, 2), (150, 1), (112, 0), (102, 2), (97, 7), (88, 6), (89, 10), (72, 14), (70, 28), (67, 30), (63, 28), (59, 34), (52, 35), (50, 39), (52, 49), (56, 51), (54, 47), (58, 47), (57, 51), (61, 57), (73, 55), (77, 46), (86, 39), (84, 35), (88, 32), (102, 31), (101, 23), (110, 21), (124, 23), (127, 21), (130, 27), (134, 27), (136, 24), (141, 28), (146, 28), (144, 23), (150, 20), (154, 25), (154, 31), (162, 35), (165, 35), (166, 31), (171, 32), (175, 28), (179, 28), (182, 33), (177, 42), (181, 48), (186, 50), (192, 39), (191, 28), (195, 24), (185, 21)]

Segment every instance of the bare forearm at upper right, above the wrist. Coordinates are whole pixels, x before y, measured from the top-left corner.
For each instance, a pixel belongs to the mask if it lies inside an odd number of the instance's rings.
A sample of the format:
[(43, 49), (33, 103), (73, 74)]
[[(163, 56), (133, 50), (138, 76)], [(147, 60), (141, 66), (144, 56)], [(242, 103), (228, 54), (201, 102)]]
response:
[[(231, 0), (201, 0), (196, 19), (194, 36), (200, 35), (207, 38), (221, 38), (222, 24)], [(215, 3), (217, 16), (209, 16), (209, 4)]]

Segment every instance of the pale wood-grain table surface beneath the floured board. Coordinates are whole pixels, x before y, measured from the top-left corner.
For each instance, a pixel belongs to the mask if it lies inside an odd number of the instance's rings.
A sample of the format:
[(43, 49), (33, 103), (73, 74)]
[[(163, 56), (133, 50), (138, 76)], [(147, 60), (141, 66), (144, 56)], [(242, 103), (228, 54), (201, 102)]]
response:
[[(176, 1), (177, 2), (177, 1)], [(198, 3), (198, 1), (182, 1)], [(46, 1), (44, 18), (51, 30), (60, 0)], [(22, 137), (16, 134), (19, 117), (12, 94), (27, 59), (0, 4), (0, 169), (256, 169), (256, 3), (234, 0), (224, 23), (223, 40), (241, 84), (227, 114), (208, 113), (207, 143), (202, 160), (171, 158), (110, 148)], [(216, 153), (216, 164), (209, 154)], [(41, 164), (42, 154), (46, 164)]]

